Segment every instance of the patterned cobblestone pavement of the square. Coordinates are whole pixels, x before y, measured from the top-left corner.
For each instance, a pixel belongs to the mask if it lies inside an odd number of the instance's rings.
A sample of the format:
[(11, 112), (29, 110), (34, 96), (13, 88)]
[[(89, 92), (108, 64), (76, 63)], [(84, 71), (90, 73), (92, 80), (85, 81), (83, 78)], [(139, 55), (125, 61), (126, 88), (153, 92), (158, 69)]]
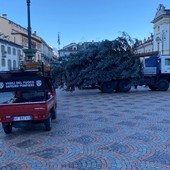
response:
[(0, 127), (0, 169), (170, 169), (170, 91), (58, 91), (58, 118), (43, 125)]

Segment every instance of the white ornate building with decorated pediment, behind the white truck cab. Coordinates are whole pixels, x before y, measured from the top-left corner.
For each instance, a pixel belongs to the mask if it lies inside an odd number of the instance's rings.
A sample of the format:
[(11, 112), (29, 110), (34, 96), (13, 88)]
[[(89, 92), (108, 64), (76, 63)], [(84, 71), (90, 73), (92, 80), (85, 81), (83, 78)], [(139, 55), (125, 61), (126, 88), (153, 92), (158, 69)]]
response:
[(170, 9), (160, 4), (151, 23), (154, 33), (140, 42), (138, 53), (158, 51), (159, 55), (170, 55)]

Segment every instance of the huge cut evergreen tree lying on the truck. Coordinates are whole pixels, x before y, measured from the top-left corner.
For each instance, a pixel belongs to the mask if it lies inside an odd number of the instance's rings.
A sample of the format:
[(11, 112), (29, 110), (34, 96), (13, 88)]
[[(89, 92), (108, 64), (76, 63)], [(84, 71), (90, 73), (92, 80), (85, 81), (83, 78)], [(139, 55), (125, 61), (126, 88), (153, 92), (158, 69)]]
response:
[[(135, 40), (137, 42), (137, 40)], [(57, 87), (74, 90), (118, 78), (140, 77), (140, 61), (132, 48), (134, 41), (126, 33), (113, 41), (105, 40), (65, 57), (54, 64)]]

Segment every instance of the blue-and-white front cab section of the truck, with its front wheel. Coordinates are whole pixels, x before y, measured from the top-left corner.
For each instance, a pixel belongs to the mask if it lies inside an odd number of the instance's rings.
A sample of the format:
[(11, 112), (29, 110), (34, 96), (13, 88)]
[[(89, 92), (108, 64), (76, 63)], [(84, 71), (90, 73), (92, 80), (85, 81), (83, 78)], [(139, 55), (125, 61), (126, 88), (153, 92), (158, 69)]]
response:
[(151, 90), (167, 91), (170, 84), (170, 56), (154, 56), (144, 59), (141, 85)]

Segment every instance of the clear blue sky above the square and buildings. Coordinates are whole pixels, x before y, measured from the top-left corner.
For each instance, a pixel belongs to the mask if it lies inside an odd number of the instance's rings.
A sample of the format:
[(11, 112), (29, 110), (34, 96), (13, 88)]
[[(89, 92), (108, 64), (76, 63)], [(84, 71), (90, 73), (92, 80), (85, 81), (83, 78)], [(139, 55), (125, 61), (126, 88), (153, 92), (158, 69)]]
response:
[[(159, 4), (170, 9), (170, 0), (31, 0), (32, 32), (50, 46), (72, 42), (113, 40), (127, 32), (143, 40), (153, 33)], [(0, 0), (0, 15), (27, 28), (26, 0)]]

